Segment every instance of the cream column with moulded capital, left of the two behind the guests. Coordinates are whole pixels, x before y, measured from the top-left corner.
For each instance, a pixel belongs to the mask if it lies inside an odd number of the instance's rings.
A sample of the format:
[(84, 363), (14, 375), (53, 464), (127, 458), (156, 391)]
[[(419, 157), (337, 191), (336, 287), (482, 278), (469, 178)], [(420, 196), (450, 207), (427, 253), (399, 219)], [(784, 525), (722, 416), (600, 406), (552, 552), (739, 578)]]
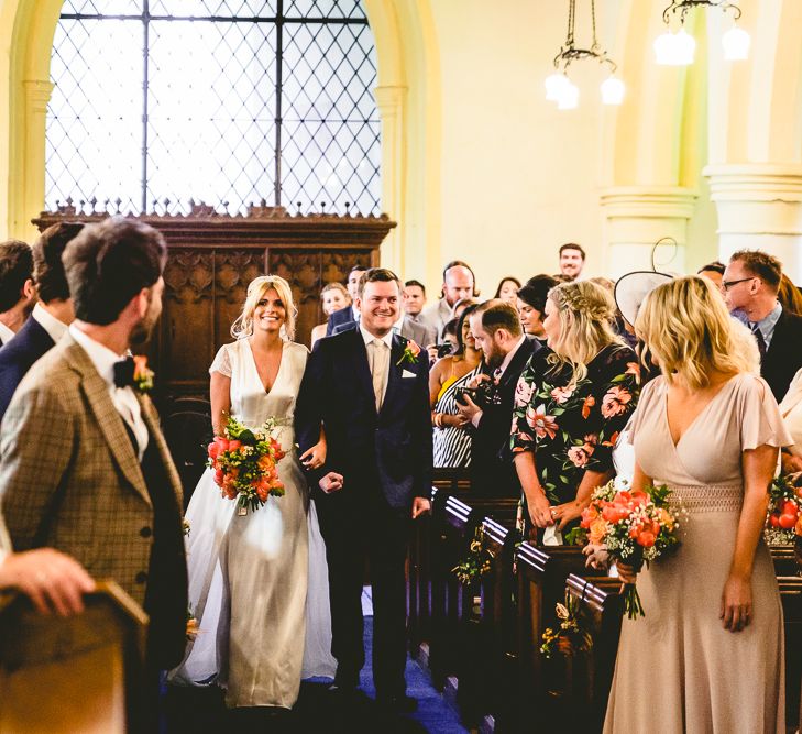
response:
[(662, 238), (677, 242), (658, 249), (658, 270), (684, 273), (688, 221), (696, 193), (682, 186), (616, 186), (601, 196), (605, 217), (607, 262), (605, 274), (651, 270), (651, 252)]

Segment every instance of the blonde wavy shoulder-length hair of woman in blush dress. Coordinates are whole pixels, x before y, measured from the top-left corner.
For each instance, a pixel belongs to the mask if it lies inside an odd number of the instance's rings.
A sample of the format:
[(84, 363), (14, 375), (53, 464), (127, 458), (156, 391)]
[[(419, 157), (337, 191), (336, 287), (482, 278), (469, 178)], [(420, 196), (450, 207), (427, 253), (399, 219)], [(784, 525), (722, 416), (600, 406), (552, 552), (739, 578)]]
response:
[(727, 311), (707, 278), (678, 277), (655, 288), (640, 306), (635, 333), (644, 340), (669, 383), (691, 390), (710, 384), (712, 371), (725, 374), (760, 369), (757, 343)]

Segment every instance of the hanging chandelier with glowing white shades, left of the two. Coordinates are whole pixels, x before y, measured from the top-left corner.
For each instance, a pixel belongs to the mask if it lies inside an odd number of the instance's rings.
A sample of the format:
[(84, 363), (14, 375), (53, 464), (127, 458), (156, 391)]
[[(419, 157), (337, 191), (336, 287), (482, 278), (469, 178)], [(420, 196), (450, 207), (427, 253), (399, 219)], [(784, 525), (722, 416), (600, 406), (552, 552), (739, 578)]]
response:
[(579, 87), (568, 78), (568, 67), (571, 62), (583, 58), (595, 58), (600, 64), (609, 67), (609, 76), (602, 83), (602, 102), (605, 105), (620, 105), (624, 100), (624, 83), (615, 76), (617, 66), (607, 56), (607, 52), (598, 46), (596, 40), (596, 2), (591, 0), (591, 23), (593, 26), (593, 42), (590, 48), (578, 48), (574, 42), (574, 26), (576, 23), (576, 0), (569, 0), (568, 35), (560, 53), (554, 56), (554, 72), (546, 77), (546, 99), (557, 102), (560, 110), (571, 110), (579, 105)]

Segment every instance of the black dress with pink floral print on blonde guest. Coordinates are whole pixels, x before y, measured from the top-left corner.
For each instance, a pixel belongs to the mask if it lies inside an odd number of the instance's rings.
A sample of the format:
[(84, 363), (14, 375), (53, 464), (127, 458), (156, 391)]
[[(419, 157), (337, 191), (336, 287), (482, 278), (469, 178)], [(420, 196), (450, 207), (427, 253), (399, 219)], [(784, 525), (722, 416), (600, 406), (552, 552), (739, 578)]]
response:
[(639, 365), (629, 347), (608, 344), (571, 385), (570, 365), (549, 355), (532, 354), (518, 380), (510, 440), (513, 454), (535, 451), (540, 484), (560, 504), (575, 499), (585, 471), (613, 469), (613, 447), (638, 401)]

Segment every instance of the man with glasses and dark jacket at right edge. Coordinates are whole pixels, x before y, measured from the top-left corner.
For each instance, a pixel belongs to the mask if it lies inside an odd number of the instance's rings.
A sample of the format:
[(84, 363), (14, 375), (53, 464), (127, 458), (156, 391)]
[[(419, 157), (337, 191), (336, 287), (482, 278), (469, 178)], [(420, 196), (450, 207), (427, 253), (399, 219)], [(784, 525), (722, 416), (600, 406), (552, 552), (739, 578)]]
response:
[(727, 308), (755, 335), (760, 374), (781, 401), (802, 368), (802, 316), (784, 311), (777, 299), (782, 265), (760, 250), (739, 250), (729, 259), (722, 292)]

